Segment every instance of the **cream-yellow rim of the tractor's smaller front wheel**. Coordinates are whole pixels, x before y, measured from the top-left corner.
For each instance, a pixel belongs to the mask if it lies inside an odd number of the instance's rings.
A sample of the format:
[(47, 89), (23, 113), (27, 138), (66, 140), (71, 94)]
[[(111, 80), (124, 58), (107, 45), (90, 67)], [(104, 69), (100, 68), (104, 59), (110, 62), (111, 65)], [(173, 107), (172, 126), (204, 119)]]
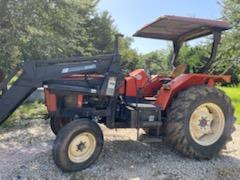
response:
[(68, 157), (74, 163), (88, 160), (96, 149), (96, 138), (88, 132), (76, 136), (68, 147)]

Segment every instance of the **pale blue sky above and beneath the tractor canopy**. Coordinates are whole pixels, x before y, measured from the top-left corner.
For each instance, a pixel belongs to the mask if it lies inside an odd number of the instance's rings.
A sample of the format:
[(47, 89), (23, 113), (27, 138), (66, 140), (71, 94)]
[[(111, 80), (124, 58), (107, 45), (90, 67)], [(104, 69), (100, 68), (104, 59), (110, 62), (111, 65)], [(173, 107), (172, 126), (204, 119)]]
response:
[[(100, 0), (98, 10), (107, 10), (114, 19), (114, 25), (125, 36), (132, 36), (138, 29), (162, 15), (221, 18), (221, 6), (217, 0)], [(140, 53), (166, 46), (166, 41), (137, 37), (132, 44)]]

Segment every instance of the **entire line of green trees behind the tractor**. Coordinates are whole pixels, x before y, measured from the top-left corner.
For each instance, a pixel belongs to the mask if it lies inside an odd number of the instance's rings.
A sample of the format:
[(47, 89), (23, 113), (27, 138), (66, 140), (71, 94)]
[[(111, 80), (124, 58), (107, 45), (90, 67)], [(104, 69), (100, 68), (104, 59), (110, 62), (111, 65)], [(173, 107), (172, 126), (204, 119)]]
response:
[[(118, 33), (108, 12), (99, 12), (99, 0), (0, 0), (0, 67), (9, 72), (22, 61), (52, 57), (93, 56), (113, 51)], [(209, 73), (231, 74), (240, 82), (240, 2), (222, 0), (223, 19), (232, 25), (225, 32), (217, 59)], [(169, 73), (171, 46), (164, 50), (139, 54), (131, 48), (132, 39), (120, 43), (124, 73), (146, 68), (152, 73)], [(185, 44), (180, 63), (201, 66), (209, 53), (209, 41)], [(151, 63), (150, 63), (151, 62)]]

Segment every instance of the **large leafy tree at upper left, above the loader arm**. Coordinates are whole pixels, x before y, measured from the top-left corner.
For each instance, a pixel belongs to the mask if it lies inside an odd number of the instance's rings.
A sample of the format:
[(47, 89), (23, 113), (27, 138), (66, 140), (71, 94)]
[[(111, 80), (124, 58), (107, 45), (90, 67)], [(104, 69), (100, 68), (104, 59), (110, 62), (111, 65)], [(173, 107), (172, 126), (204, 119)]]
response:
[(97, 0), (0, 0), (0, 66), (112, 51), (116, 31)]

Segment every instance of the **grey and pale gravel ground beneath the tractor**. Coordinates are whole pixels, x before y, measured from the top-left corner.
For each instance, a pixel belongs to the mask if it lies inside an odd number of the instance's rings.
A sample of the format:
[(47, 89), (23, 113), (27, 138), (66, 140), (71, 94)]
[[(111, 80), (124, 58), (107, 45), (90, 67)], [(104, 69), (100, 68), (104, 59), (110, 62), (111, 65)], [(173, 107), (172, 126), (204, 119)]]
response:
[(88, 169), (63, 173), (51, 155), (55, 136), (48, 122), (31, 120), (0, 129), (0, 179), (240, 179), (240, 126), (219, 157), (197, 161), (172, 152), (163, 143), (136, 141), (136, 130), (102, 126), (105, 144)]

